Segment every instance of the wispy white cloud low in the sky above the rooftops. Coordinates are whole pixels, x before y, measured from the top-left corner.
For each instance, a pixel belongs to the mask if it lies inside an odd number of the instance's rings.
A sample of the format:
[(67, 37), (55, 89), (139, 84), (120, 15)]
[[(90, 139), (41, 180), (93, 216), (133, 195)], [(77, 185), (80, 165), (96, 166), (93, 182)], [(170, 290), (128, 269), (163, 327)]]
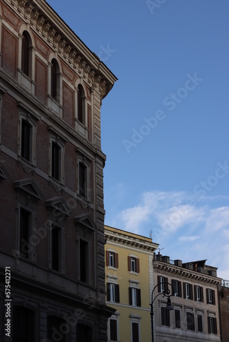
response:
[[(224, 202), (224, 205), (219, 205)], [(149, 236), (171, 259), (208, 259), (218, 276), (229, 279), (228, 198), (196, 198), (186, 192), (145, 192), (133, 207), (113, 220), (117, 228)], [(221, 204), (221, 203), (220, 203)], [(225, 205), (226, 204), (226, 205)]]

